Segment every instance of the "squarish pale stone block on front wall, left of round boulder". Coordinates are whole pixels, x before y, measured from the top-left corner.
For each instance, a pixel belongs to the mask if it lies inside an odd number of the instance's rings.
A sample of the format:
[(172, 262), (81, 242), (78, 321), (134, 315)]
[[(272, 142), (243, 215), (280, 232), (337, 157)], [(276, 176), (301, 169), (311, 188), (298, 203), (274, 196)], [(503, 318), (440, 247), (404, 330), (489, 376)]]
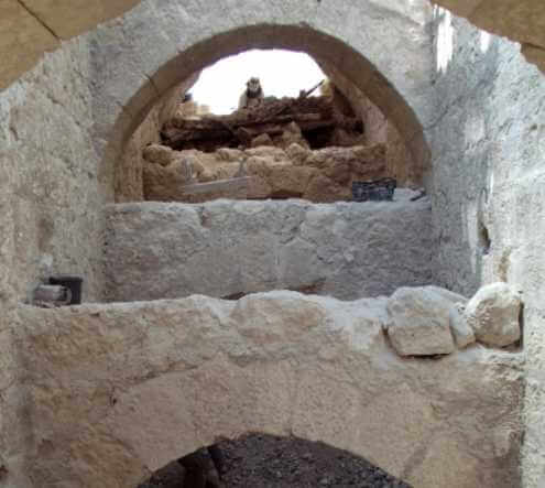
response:
[(449, 326), (453, 300), (434, 286), (401, 288), (389, 299), (385, 328), (401, 356), (434, 356), (455, 350)]

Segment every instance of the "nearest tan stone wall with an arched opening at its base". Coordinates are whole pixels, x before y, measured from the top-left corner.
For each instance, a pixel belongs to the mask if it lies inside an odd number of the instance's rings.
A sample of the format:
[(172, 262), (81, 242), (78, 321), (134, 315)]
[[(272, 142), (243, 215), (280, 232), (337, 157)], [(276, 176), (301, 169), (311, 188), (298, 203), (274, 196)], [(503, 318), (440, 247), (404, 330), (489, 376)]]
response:
[[(447, 321), (464, 300), (414, 293), (435, 296)], [(408, 302), (411, 319), (427, 321)], [(401, 357), (384, 333), (396, 303), (283, 291), (22, 306), (22, 466), (40, 481), (11, 484), (21, 459), (7, 458), (8, 486), (134, 487), (217, 436), (263, 432), (320, 440), (418, 488), (519, 487), (522, 355), (472, 345)]]

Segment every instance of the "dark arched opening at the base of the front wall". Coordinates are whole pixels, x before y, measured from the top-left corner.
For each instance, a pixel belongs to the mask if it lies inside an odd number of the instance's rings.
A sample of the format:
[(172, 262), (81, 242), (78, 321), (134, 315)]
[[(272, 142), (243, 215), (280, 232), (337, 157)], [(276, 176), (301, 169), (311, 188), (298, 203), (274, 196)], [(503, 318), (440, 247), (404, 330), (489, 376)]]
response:
[(323, 442), (249, 433), (187, 454), (138, 488), (410, 488), (363, 457)]

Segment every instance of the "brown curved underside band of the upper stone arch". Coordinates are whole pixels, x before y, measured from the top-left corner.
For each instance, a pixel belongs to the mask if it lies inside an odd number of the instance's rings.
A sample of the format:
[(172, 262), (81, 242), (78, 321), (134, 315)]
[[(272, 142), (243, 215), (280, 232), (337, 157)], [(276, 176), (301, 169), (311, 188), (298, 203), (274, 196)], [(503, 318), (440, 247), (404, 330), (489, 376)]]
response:
[[(391, 122), (406, 148), (406, 159), (410, 161), (405, 164), (407, 167), (403, 178), (416, 185), (423, 183), (429, 166), (429, 149), (422, 123), (407, 100), (363, 54), (344, 41), (308, 25), (260, 24), (235, 29), (194, 44), (160, 67), (150, 77), (149, 83), (130, 99), (124, 107), (124, 116), (117, 120), (113, 138), (107, 151), (109, 156), (105, 160), (107, 163), (113, 154), (115, 160), (121, 161), (116, 167), (115, 176), (115, 193), (118, 202), (141, 199), (138, 195), (140, 170), (127, 167), (128, 164), (120, 154), (126, 151), (131, 135), (137, 132), (154, 107), (156, 110), (157, 102), (162, 102), (160, 111), (164, 115), (164, 108), (173, 98), (179, 98), (179, 93), (185, 93), (205, 67), (225, 57), (254, 48), (281, 48), (306, 53), (318, 62), (331, 79), (335, 79), (336, 87), (352, 106), (364, 97)], [(128, 113), (131, 117), (128, 117)], [(132, 186), (127, 185), (127, 182), (132, 181), (134, 181)]]

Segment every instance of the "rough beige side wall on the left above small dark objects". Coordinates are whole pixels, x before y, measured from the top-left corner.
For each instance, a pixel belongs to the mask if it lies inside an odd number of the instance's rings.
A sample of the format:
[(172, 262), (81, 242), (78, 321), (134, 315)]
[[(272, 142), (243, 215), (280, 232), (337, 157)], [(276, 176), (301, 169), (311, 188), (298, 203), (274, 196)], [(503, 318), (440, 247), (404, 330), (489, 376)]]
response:
[(88, 44), (48, 54), (0, 97), (0, 293), (26, 300), (51, 273), (101, 293), (101, 207), (111, 198), (91, 138)]

